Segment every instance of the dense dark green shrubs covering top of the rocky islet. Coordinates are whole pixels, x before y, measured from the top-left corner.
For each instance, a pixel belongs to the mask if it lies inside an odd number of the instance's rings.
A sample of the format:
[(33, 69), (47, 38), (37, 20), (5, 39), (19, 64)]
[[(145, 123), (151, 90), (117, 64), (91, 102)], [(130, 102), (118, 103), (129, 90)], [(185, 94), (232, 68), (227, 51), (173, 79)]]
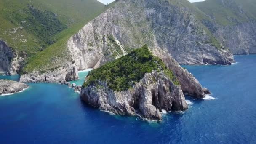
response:
[(154, 70), (163, 71), (174, 84), (179, 85), (173, 72), (160, 58), (153, 56), (147, 45), (144, 45), (126, 56), (93, 69), (89, 72), (83, 88), (91, 84), (97, 85), (98, 80), (101, 80), (106, 81), (108, 87), (114, 91), (126, 91), (139, 82), (146, 73), (151, 73)]

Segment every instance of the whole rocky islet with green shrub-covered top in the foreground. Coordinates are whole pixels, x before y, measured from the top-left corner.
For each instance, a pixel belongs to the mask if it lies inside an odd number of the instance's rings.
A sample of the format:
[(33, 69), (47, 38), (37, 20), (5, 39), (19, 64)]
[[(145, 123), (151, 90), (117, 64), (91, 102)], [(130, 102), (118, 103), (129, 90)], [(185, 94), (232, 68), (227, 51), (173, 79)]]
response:
[(80, 97), (119, 115), (161, 120), (161, 112), (188, 108), (179, 79), (147, 46), (89, 72)]

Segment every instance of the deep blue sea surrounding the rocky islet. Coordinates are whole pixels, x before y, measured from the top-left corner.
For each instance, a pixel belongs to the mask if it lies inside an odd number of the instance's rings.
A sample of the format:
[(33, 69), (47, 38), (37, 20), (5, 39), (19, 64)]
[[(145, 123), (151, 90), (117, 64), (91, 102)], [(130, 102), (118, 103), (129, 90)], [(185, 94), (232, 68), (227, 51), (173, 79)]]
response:
[(256, 55), (232, 66), (184, 66), (214, 100), (194, 100), (160, 123), (109, 115), (88, 107), (64, 85), (29, 84), (0, 96), (0, 143), (255, 144)]

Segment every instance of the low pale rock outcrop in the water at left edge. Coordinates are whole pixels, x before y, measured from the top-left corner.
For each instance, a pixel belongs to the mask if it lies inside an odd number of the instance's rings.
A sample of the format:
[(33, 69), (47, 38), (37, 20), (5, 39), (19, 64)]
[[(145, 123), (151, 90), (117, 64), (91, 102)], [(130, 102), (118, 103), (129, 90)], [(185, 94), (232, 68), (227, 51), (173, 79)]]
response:
[(0, 95), (17, 93), (28, 87), (29, 86), (24, 83), (12, 81), (12, 80), (0, 80)]

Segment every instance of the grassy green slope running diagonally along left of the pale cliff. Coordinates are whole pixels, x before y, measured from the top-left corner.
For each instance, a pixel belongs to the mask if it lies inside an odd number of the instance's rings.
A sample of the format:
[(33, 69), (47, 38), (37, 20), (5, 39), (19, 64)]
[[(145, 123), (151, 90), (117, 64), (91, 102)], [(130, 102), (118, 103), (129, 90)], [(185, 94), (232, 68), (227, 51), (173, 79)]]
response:
[(87, 19), (84, 19), (81, 22), (73, 24), (68, 29), (65, 29), (62, 32), (54, 35), (52, 38), (57, 40), (56, 43), (48, 46), (45, 48), (45, 50), (40, 51), (34, 56), (30, 57), (26, 61), (26, 65), (22, 69), (22, 73), (32, 72), (33, 70), (43, 73), (49, 69), (54, 70), (61, 67), (61, 64), (69, 59), (69, 53), (67, 51), (67, 41), (69, 38), (77, 33), (86, 23), (114, 5), (115, 2), (109, 4), (108, 6), (104, 6), (104, 8), (98, 13), (87, 17)]

